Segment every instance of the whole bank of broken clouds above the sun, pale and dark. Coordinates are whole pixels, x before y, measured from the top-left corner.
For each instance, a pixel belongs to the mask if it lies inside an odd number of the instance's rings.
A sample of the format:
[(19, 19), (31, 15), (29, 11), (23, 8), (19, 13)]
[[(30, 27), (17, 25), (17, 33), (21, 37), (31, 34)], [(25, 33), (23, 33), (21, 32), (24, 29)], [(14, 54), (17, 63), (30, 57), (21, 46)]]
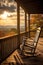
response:
[[(5, 1), (4, 3), (2, 3)], [(7, 1), (7, 3), (6, 3)], [(2, 13), (4, 10), (9, 12), (14, 12), (16, 9), (16, 6), (14, 6), (14, 0), (0, 0), (0, 13)], [(10, 6), (9, 6), (10, 5)]]

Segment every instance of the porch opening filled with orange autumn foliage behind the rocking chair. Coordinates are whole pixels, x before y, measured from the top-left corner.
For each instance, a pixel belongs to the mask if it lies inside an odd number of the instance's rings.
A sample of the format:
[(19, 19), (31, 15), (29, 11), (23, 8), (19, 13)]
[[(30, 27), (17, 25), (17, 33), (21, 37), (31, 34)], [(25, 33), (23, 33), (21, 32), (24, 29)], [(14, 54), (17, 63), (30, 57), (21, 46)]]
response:
[(35, 30), (38, 26), (43, 26), (43, 14), (31, 14), (30, 15), (31, 36), (35, 35)]

